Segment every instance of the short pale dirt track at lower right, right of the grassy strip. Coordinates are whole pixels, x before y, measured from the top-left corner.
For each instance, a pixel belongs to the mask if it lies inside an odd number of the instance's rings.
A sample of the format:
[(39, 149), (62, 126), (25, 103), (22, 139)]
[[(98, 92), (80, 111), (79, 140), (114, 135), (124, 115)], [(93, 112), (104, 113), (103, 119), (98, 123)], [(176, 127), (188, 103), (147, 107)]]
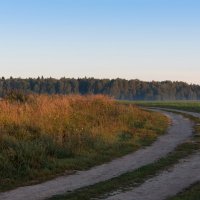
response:
[(147, 180), (132, 191), (116, 194), (106, 200), (165, 200), (199, 180), (200, 154), (196, 154), (181, 160), (169, 171)]

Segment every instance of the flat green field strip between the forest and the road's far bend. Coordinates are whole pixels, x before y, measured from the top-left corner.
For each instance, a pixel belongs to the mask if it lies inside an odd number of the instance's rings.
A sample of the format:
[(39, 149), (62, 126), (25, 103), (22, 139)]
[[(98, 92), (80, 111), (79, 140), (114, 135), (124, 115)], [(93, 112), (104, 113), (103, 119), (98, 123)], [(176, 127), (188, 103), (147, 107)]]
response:
[(122, 101), (147, 107), (173, 108), (200, 113), (200, 101)]

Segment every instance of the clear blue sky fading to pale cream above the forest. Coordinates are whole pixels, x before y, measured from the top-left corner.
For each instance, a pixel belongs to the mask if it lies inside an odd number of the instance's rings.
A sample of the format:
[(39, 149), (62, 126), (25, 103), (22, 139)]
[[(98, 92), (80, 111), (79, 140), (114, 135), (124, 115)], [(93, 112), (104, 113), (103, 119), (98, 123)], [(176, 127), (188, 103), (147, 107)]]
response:
[(199, 0), (0, 0), (0, 76), (200, 84)]

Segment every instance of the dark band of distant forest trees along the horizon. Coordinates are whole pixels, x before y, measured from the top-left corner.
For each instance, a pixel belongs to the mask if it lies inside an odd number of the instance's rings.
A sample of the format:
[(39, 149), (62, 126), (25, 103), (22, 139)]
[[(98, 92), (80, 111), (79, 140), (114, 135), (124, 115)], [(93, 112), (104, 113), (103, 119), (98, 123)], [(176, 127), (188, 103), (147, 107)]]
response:
[(199, 85), (119, 78), (0, 78), (0, 97), (12, 90), (37, 94), (105, 94), (124, 100), (200, 100)]

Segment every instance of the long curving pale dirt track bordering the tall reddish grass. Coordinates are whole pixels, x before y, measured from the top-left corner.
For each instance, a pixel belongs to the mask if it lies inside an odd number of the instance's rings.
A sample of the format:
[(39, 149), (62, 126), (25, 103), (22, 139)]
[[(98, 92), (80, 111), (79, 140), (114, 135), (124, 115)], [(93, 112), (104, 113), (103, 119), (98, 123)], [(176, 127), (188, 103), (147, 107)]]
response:
[(53, 195), (111, 179), (164, 157), (173, 151), (178, 144), (184, 142), (192, 135), (193, 123), (177, 114), (165, 111), (159, 112), (171, 118), (172, 126), (169, 127), (167, 134), (160, 136), (151, 146), (87, 171), (80, 171), (74, 175), (58, 177), (45, 183), (20, 187), (12, 191), (0, 193), (0, 199), (45, 199)]

